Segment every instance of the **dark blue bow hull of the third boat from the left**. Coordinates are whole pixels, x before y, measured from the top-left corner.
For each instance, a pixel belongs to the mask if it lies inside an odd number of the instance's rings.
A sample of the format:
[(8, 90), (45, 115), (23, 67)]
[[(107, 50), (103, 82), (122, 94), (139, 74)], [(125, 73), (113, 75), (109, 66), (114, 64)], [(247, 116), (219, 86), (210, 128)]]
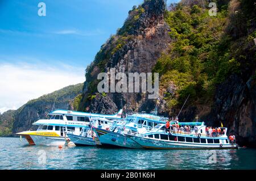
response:
[(100, 128), (94, 129), (102, 146), (118, 148), (142, 148), (142, 146), (123, 134), (106, 131), (105, 129)]

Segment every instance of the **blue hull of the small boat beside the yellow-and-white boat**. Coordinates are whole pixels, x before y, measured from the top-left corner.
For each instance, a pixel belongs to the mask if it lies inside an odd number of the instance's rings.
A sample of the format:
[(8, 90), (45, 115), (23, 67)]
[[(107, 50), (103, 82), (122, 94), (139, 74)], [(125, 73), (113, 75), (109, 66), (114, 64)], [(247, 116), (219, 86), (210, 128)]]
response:
[(77, 136), (75, 134), (67, 134), (67, 135), (76, 146), (97, 146), (97, 145), (101, 145), (101, 143), (100, 143), (100, 141), (98, 140), (97, 137), (95, 137), (94, 140), (93, 140), (93, 138), (84, 137), (84, 136)]

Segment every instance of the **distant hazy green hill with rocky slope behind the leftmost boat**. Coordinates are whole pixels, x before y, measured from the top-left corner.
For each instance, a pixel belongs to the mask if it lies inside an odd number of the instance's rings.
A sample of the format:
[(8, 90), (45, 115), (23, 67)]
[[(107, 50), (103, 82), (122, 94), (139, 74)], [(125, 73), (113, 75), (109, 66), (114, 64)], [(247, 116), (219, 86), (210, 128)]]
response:
[(10, 110), (0, 115), (1, 136), (34, 129), (32, 125), (38, 119), (46, 119), (47, 114), (55, 109), (72, 110), (73, 99), (81, 94), (82, 83), (30, 100), (18, 110)]

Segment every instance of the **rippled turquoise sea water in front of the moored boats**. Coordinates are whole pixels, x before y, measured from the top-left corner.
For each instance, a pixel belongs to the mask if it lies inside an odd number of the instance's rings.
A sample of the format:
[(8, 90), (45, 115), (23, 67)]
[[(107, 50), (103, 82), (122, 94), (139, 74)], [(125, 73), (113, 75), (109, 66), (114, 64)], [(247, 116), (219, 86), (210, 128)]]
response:
[(256, 149), (59, 149), (23, 146), (19, 138), (0, 142), (0, 169), (256, 169)]

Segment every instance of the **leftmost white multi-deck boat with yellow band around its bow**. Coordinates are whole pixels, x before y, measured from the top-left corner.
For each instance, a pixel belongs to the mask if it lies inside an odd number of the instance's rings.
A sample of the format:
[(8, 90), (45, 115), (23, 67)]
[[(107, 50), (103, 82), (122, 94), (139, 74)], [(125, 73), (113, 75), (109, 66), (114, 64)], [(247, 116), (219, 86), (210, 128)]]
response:
[[(48, 114), (49, 119), (41, 119), (33, 123), (39, 126), (36, 131), (16, 133), (20, 140), (27, 140), (30, 145), (64, 145), (67, 133), (79, 135), (82, 128), (88, 126), (92, 118), (121, 120), (122, 110), (116, 115), (101, 115), (67, 110), (55, 110)], [(25, 139), (22, 139), (25, 138)]]

